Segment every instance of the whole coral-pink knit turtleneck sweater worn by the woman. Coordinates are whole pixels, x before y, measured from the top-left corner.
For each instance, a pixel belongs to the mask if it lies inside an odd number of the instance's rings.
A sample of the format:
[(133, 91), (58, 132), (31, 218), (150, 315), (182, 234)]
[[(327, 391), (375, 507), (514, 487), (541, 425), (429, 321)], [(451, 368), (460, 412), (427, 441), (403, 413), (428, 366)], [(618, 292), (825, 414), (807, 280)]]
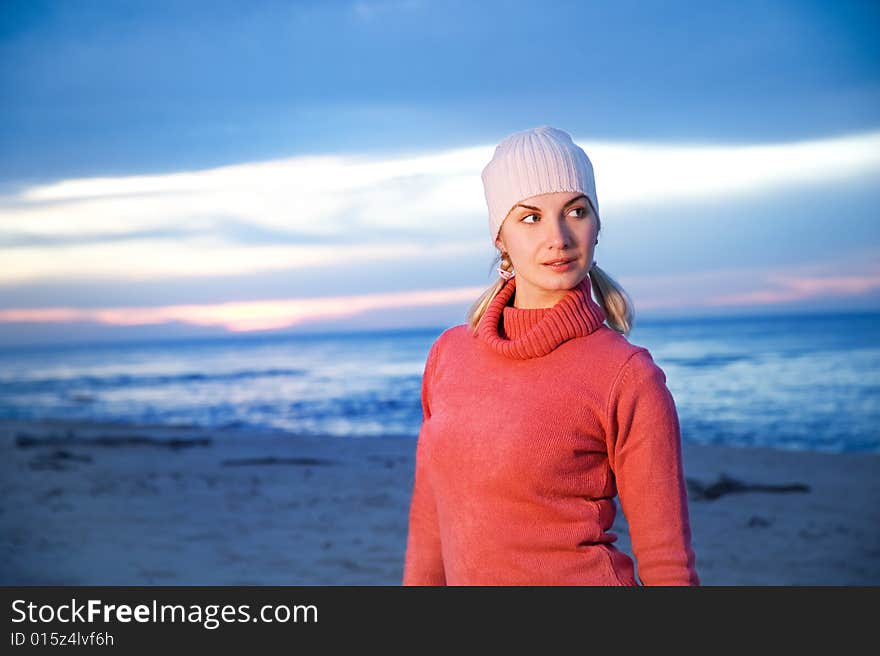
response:
[(699, 585), (666, 376), (604, 325), (589, 277), (552, 308), (512, 306), (431, 346), (404, 585)]

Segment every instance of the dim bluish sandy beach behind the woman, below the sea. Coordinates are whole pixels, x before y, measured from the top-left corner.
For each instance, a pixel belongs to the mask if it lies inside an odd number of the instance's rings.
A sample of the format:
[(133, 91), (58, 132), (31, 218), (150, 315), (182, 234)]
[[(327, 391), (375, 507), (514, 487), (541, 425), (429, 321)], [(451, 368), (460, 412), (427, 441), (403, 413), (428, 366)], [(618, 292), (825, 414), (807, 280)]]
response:
[[(415, 437), (0, 422), (4, 585), (399, 585)], [(683, 444), (703, 585), (880, 584), (880, 455)], [(626, 519), (612, 529), (631, 554)]]

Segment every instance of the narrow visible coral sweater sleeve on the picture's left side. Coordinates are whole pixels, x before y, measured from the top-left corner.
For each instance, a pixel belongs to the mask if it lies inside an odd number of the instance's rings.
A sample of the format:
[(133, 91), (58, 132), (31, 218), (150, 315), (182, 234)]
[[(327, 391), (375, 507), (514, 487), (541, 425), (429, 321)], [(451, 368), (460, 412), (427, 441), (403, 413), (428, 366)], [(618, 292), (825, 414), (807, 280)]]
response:
[(445, 585), (440, 551), (440, 526), (434, 491), (424, 456), (425, 427), (431, 418), (431, 377), (437, 360), (437, 342), (428, 352), (422, 375), (422, 425), (416, 443), (415, 476), (409, 510), (409, 533), (403, 567), (403, 585)]

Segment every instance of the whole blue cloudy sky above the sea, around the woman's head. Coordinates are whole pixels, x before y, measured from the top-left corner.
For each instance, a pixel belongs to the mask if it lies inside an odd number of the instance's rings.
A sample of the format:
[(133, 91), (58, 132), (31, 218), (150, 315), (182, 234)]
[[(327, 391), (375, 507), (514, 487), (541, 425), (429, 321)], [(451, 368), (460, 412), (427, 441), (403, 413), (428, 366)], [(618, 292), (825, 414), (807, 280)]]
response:
[(444, 328), (569, 132), (640, 318), (880, 310), (876, 2), (0, 2), (0, 346)]

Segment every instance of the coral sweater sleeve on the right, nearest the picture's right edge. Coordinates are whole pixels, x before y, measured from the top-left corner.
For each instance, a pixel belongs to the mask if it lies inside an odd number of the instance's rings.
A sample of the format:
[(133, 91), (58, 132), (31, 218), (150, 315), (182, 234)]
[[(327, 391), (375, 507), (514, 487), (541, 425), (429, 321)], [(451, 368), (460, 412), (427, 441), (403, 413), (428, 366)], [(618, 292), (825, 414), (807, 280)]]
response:
[(609, 462), (643, 585), (700, 585), (691, 545), (681, 429), (666, 374), (647, 349), (609, 398)]

